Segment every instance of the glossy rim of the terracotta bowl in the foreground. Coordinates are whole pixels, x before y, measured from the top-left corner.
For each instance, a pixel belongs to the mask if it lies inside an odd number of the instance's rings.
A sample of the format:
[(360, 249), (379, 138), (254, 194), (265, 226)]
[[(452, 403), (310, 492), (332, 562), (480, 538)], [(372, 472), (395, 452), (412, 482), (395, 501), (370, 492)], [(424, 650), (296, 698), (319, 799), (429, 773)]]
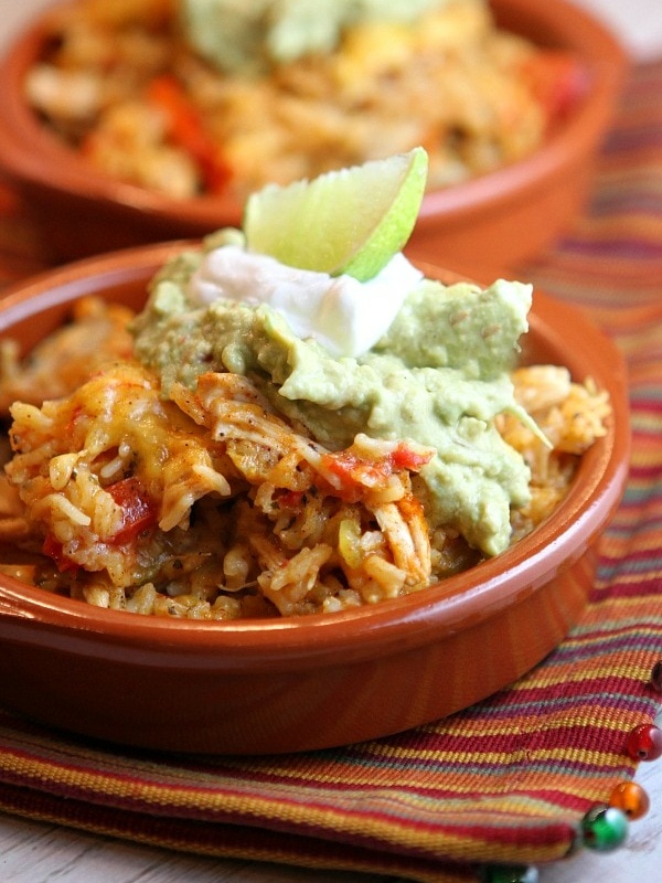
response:
[[(103, 295), (114, 286), (142, 284), (164, 259), (191, 244), (196, 243), (160, 243), (85, 258), (14, 285), (0, 301), (0, 334), (11, 337), (15, 323), (42, 309), (64, 315), (66, 305), (86, 294)], [(446, 281), (465, 278), (430, 265), (420, 266)], [(419, 593), (374, 607), (300, 618), (204, 624), (99, 609), (1, 576), (0, 635), (15, 637), (18, 629), (25, 643), (51, 641), (53, 646), (62, 645), (64, 637), (66, 645), (62, 646), (68, 650), (78, 639), (87, 648), (84, 652), (120, 651), (124, 659), (131, 652), (137, 659), (157, 652), (163, 664), (171, 658), (178, 667), (185, 655), (186, 666), (197, 668), (250, 671), (266, 661), (271, 668), (303, 668), (339, 658), (339, 652), (343, 660), (367, 659), (442, 641), (448, 634), (490, 618), (543, 589), (595, 542), (621, 499), (629, 469), (629, 404), (620, 352), (583, 311), (536, 290), (530, 320), (532, 342), (537, 340), (538, 348), (542, 342), (552, 351), (568, 350), (570, 370), (583, 365), (583, 374), (592, 374), (598, 386), (609, 391), (613, 414), (608, 435), (584, 455), (564, 502), (530, 536), (501, 555)], [(589, 364), (590, 372), (586, 371)]]

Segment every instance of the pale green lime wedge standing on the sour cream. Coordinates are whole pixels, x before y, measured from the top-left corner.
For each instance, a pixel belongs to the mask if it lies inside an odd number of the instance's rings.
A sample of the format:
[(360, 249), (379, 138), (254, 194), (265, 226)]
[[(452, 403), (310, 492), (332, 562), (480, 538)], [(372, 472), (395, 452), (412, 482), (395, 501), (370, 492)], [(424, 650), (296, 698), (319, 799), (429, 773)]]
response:
[(311, 181), (268, 184), (246, 201), (247, 247), (291, 267), (371, 279), (412, 235), (427, 167), (416, 147)]

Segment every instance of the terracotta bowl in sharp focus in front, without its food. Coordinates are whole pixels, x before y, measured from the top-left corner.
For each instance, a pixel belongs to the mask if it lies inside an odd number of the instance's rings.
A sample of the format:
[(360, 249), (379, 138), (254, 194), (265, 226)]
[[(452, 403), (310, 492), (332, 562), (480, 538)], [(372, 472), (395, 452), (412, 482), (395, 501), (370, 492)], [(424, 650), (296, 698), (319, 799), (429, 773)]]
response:
[[(84, 295), (140, 308), (147, 280), (181, 247), (142, 246), (42, 274), (0, 301), (0, 333), (28, 352)], [(563, 504), (504, 554), (373, 607), (216, 624), (99, 609), (0, 576), (0, 703), (115, 743), (268, 754), (404, 731), (511, 683), (586, 605), (630, 437), (620, 355), (581, 313), (536, 292), (524, 355), (594, 376), (613, 417)]]

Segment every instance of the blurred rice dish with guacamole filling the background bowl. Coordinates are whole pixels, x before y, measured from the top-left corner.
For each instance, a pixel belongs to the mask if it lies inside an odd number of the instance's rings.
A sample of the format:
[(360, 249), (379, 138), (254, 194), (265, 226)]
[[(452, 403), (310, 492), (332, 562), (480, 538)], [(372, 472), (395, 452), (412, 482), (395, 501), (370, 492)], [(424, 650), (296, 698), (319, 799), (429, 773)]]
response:
[(431, 190), (484, 174), (535, 151), (588, 77), (487, 0), (79, 0), (51, 17), (25, 95), (111, 177), (243, 200), (417, 143)]

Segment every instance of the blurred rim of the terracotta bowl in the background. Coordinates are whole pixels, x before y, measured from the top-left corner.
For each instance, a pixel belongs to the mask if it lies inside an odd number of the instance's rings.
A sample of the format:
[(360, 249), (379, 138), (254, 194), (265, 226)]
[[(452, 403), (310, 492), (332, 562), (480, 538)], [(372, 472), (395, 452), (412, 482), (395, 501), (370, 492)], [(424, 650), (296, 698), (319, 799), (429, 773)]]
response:
[[(73, 0), (75, 4), (76, 0)], [(72, 0), (70, 0), (72, 2)], [(611, 31), (598, 19), (567, 0), (491, 0), (498, 19), (506, 25), (522, 21), (522, 33), (544, 32), (549, 45), (575, 51), (587, 65), (591, 86), (548, 140), (532, 156), (480, 178), (426, 194), (419, 228), (460, 223), (471, 216), (499, 211), (517, 202), (563, 172), (595, 147), (612, 103), (622, 84), (627, 55)], [(40, 124), (22, 98), (20, 83), (38, 55), (44, 24), (52, 12), (38, 15), (8, 47), (0, 61), (0, 167), (15, 181), (40, 185), (51, 193), (121, 206), (129, 212), (167, 222), (177, 214), (180, 223), (237, 224), (242, 203), (231, 198), (200, 196), (171, 200), (145, 188), (124, 183), (97, 172), (62, 145)], [(517, 28), (512, 24), (512, 30)], [(540, 42), (540, 41), (537, 41)], [(542, 44), (542, 43), (541, 43)], [(45, 161), (44, 161), (45, 160)]]

